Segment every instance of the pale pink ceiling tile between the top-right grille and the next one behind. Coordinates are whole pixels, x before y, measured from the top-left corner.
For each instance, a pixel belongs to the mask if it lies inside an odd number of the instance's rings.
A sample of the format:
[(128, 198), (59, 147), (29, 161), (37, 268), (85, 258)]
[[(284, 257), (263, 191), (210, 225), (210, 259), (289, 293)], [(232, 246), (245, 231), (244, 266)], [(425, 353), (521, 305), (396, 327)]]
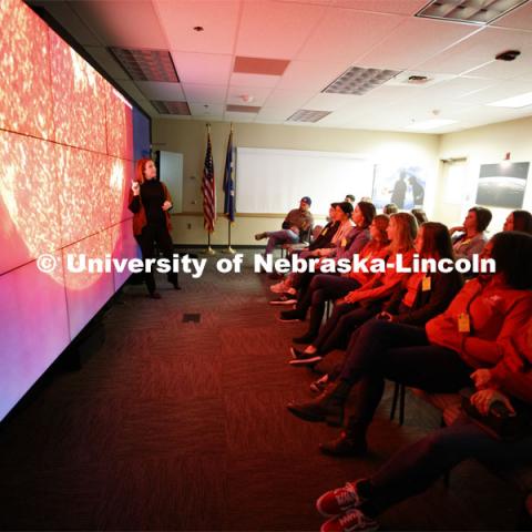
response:
[(478, 31), (471, 24), (411, 18), (357, 61), (357, 66), (407, 70)]

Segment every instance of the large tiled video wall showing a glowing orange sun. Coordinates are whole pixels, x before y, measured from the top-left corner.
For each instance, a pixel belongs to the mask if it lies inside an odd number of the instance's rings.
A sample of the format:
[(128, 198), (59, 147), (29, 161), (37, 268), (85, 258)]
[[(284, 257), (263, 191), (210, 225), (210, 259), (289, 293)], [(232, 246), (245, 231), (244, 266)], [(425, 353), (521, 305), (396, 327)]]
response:
[(66, 256), (137, 247), (132, 105), (20, 0), (0, 28), (1, 420), (126, 280)]

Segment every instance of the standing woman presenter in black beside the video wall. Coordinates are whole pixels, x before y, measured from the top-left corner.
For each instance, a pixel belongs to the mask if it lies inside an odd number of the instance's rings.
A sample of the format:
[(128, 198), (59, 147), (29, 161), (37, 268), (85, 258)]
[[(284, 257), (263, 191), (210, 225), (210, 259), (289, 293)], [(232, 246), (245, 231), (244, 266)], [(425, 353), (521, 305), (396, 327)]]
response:
[[(154, 256), (154, 243), (163, 253), (164, 257), (172, 262), (174, 245), (170, 232), (168, 211), (172, 208), (172, 201), (166, 186), (157, 180), (157, 168), (151, 158), (141, 158), (136, 163), (136, 176), (130, 192), (130, 211), (133, 216), (133, 234), (141, 246), (144, 260), (156, 258)], [(160, 299), (161, 295), (155, 290), (154, 265), (145, 267), (144, 278), (146, 280), (150, 297)], [(171, 272), (167, 275), (168, 282), (180, 289), (177, 273)]]

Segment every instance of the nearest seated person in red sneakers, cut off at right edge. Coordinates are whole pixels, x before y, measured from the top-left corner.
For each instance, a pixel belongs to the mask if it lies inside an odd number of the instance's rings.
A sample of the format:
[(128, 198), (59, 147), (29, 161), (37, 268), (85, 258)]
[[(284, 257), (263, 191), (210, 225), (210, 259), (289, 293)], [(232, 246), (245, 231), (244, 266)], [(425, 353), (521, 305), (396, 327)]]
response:
[[(492, 371), (472, 374), (478, 391), (470, 398), (482, 418), (501, 406), (523, 417), (521, 433), (497, 438), (467, 416), (405, 447), (379, 470), (345, 487), (324, 493), (316, 508), (326, 518), (321, 532), (376, 530), (376, 518), (388, 508), (424, 492), (463, 460), (478, 459), (509, 468), (530, 463), (532, 448), (532, 319), (515, 340), (502, 345), (501, 361)], [(498, 369), (502, 368), (502, 371)], [(407, 524), (408, 528), (408, 524)]]

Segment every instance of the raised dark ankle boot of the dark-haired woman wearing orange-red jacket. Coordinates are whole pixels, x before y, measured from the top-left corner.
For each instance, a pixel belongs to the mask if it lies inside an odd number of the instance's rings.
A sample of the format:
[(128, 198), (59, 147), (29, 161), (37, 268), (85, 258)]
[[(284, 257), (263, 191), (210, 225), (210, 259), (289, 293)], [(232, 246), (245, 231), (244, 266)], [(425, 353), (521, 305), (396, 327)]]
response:
[(344, 405), (347, 400), (351, 385), (339, 380), (335, 386), (328, 387), (319, 397), (307, 402), (289, 402), (287, 408), (305, 421), (325, 421), (335, 427), (344, 421)]

